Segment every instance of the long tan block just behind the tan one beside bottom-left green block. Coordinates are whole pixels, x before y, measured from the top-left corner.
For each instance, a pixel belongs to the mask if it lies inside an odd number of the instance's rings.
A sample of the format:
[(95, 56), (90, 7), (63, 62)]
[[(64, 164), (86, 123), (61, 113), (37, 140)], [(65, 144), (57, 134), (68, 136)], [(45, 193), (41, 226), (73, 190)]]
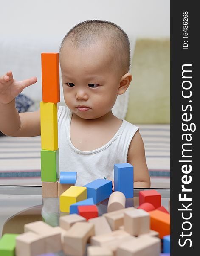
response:
[(45, 241), (45, 253), (57, 253), (62, 250), (61, 234), (43, 221), (24, 225), (24, 231), (38, 234)]

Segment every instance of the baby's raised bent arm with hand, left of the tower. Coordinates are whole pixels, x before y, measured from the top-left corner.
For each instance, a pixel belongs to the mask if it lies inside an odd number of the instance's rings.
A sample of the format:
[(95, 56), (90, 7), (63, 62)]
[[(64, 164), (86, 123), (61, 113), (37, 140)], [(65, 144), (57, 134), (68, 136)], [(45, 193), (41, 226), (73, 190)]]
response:
[(36, 81), (36, 77), (16, 81), (11, 71), (0, 76), (0, 131), (3, 134), (14, 137), (40, 135), (40, 111), (18, 113), (15, 107), (15, 97)]

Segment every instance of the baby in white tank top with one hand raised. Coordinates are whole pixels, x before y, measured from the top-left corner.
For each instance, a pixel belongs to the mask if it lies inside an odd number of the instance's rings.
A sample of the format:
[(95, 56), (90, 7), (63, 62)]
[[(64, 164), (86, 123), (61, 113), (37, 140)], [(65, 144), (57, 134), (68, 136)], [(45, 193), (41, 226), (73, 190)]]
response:
[[(77, 171), (76, 186), (97, 178), (113, 180), (115, 163), (134, 166), (134, 187), (150, 187), (139, 128), (112, 113), (117, 96), (132, 80), (130, 43), (116, 24), (89, 20), (74, 26), (59, 49), (67, 107), (58, 109), (60, 171)], [(36, 77), (0, 77), (0, 131), (8, 136), (40, 135), (40, 111), (18, 113), (15, 97)]]

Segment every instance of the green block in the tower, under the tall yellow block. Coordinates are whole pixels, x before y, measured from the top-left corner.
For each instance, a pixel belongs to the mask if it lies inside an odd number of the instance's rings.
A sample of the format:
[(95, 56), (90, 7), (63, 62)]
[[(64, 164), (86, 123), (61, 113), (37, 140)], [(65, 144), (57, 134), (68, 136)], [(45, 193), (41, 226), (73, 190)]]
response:
[(59, 149), (41, 150), (41, 180), (56, 182), (59, 179)]

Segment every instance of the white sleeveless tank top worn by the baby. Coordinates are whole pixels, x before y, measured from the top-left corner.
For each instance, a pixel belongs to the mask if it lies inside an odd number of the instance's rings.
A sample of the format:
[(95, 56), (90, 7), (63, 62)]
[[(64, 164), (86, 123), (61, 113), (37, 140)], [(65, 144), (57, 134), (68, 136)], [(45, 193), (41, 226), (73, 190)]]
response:
[(84, 186), (96, 180), (113, 179), (115, 163), (127, 163), (130, 142), (139, 127), (122, 120), (121, 127), (113, 138), (92, 151), (81, 151), (70, 140), (72, 111), (68, 107), (58, 109), (58, 146), (59, 169), (65, 172), (77, 172), (76, 186)]

